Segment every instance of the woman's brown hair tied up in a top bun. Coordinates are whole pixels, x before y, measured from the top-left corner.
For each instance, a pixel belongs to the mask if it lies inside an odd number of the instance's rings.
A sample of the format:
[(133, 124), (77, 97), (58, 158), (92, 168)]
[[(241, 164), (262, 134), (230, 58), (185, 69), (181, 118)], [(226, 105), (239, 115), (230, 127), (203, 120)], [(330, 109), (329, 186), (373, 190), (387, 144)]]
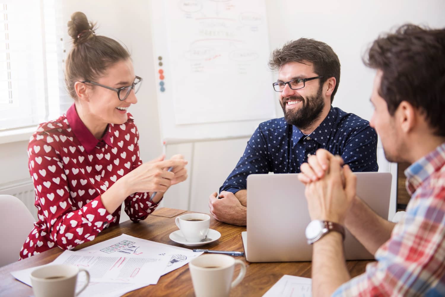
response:
[(83, 12), (74, 12), (68, 22), (73, 49), (66, 59), (65, 84), (73, 99), (77, 98), (76, 81), (94, 81), (105, 73), (107, 67), (130, 57), (119, 42), (96, 35), (95, 29), (96, 24), (89, 22)]

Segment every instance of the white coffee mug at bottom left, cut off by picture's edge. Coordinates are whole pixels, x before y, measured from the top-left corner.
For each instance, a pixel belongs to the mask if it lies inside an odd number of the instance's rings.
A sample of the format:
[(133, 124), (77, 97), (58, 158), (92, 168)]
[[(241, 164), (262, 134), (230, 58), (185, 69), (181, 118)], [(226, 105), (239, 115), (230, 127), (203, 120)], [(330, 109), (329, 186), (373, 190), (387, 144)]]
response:
[[(77, 274), (81, 271), (86, 274), (86, 284), (75, 292)], [(89, 273), (74, 265), (47, 265), (32, 271), (31, 283), (35, 297), (74, 297), (85, 290), (89, 283)]]

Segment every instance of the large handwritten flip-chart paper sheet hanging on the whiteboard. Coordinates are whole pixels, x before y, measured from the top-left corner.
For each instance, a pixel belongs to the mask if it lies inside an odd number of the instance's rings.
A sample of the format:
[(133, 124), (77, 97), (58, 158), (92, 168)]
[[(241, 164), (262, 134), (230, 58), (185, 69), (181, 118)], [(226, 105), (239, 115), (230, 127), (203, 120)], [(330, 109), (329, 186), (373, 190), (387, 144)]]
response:
[(273, 118), (265, 1), (162, 2), (176, 124)]

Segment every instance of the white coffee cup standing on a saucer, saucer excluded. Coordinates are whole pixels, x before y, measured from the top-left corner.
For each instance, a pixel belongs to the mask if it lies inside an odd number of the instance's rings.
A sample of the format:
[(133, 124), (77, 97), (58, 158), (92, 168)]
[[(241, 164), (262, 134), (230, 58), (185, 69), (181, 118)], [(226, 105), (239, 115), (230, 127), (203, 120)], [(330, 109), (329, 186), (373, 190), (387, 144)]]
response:
[(187, 242), (199, 242), (209, 232), (210, 216), (203, 213), (189, 213), (178, 216), (175, 223)]

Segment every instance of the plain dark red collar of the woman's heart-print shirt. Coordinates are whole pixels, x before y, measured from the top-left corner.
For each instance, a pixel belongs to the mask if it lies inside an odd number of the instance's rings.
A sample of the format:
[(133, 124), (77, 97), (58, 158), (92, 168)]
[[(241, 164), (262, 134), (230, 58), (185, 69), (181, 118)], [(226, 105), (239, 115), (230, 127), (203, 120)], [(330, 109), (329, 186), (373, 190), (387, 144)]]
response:
[(74, 135), (76, 135), (77, 139), (79, 139), (79, 142), (85, 148), (85, 151), (87, 151), (87, 153), (93, 151), (94, 147), (97, 146), (97, 143), (101, 141), (113, 147), (110, 139), (110, 128), (107, 127), (107, 131), (104, 136), (102, 136), (101, 139), (97, 140), (97, 138), (94, 137), (94, 135), (82, 122), (81, 118), (79, 118), (75, 104), (73, 104), (66, 112), (66, 119), (68, 120), (69, 126), (73, 130)]

